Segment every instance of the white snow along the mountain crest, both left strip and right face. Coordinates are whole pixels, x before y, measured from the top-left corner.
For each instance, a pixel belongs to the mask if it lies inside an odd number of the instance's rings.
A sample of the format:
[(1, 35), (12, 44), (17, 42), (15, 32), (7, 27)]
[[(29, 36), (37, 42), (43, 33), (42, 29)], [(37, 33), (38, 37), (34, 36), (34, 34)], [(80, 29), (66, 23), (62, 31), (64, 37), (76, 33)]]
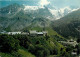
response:
[(48, 8), (48, 11), (53, 15), (53, 17), (57, 20), (57, 19), (60, 19), (61, 17), (73, 12), (73, 11), (76, 11), (78, 10), (79, 8), (74, 8), (72, 9), (71, 7), (69, 6), (66, 6), (64, 8), (56, 8), (55, 6), (53, 7), (50, 7), (51, 5), (48, 5), (48, 6), (25, 6), (24, 7), (24, 11), (37, 11), (39, 9), (46, 9)]

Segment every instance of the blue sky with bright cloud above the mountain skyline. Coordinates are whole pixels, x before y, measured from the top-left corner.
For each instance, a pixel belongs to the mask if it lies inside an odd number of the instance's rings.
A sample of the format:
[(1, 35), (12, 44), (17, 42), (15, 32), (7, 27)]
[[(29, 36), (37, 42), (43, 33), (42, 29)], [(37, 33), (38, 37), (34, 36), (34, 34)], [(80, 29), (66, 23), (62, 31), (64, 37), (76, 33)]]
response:
[(0, 0), (0, 8), (12, 3), (30, 5), (30, 6), (55, 6), (63, 8), (66, 6), (80, 7), (80, 0)]

